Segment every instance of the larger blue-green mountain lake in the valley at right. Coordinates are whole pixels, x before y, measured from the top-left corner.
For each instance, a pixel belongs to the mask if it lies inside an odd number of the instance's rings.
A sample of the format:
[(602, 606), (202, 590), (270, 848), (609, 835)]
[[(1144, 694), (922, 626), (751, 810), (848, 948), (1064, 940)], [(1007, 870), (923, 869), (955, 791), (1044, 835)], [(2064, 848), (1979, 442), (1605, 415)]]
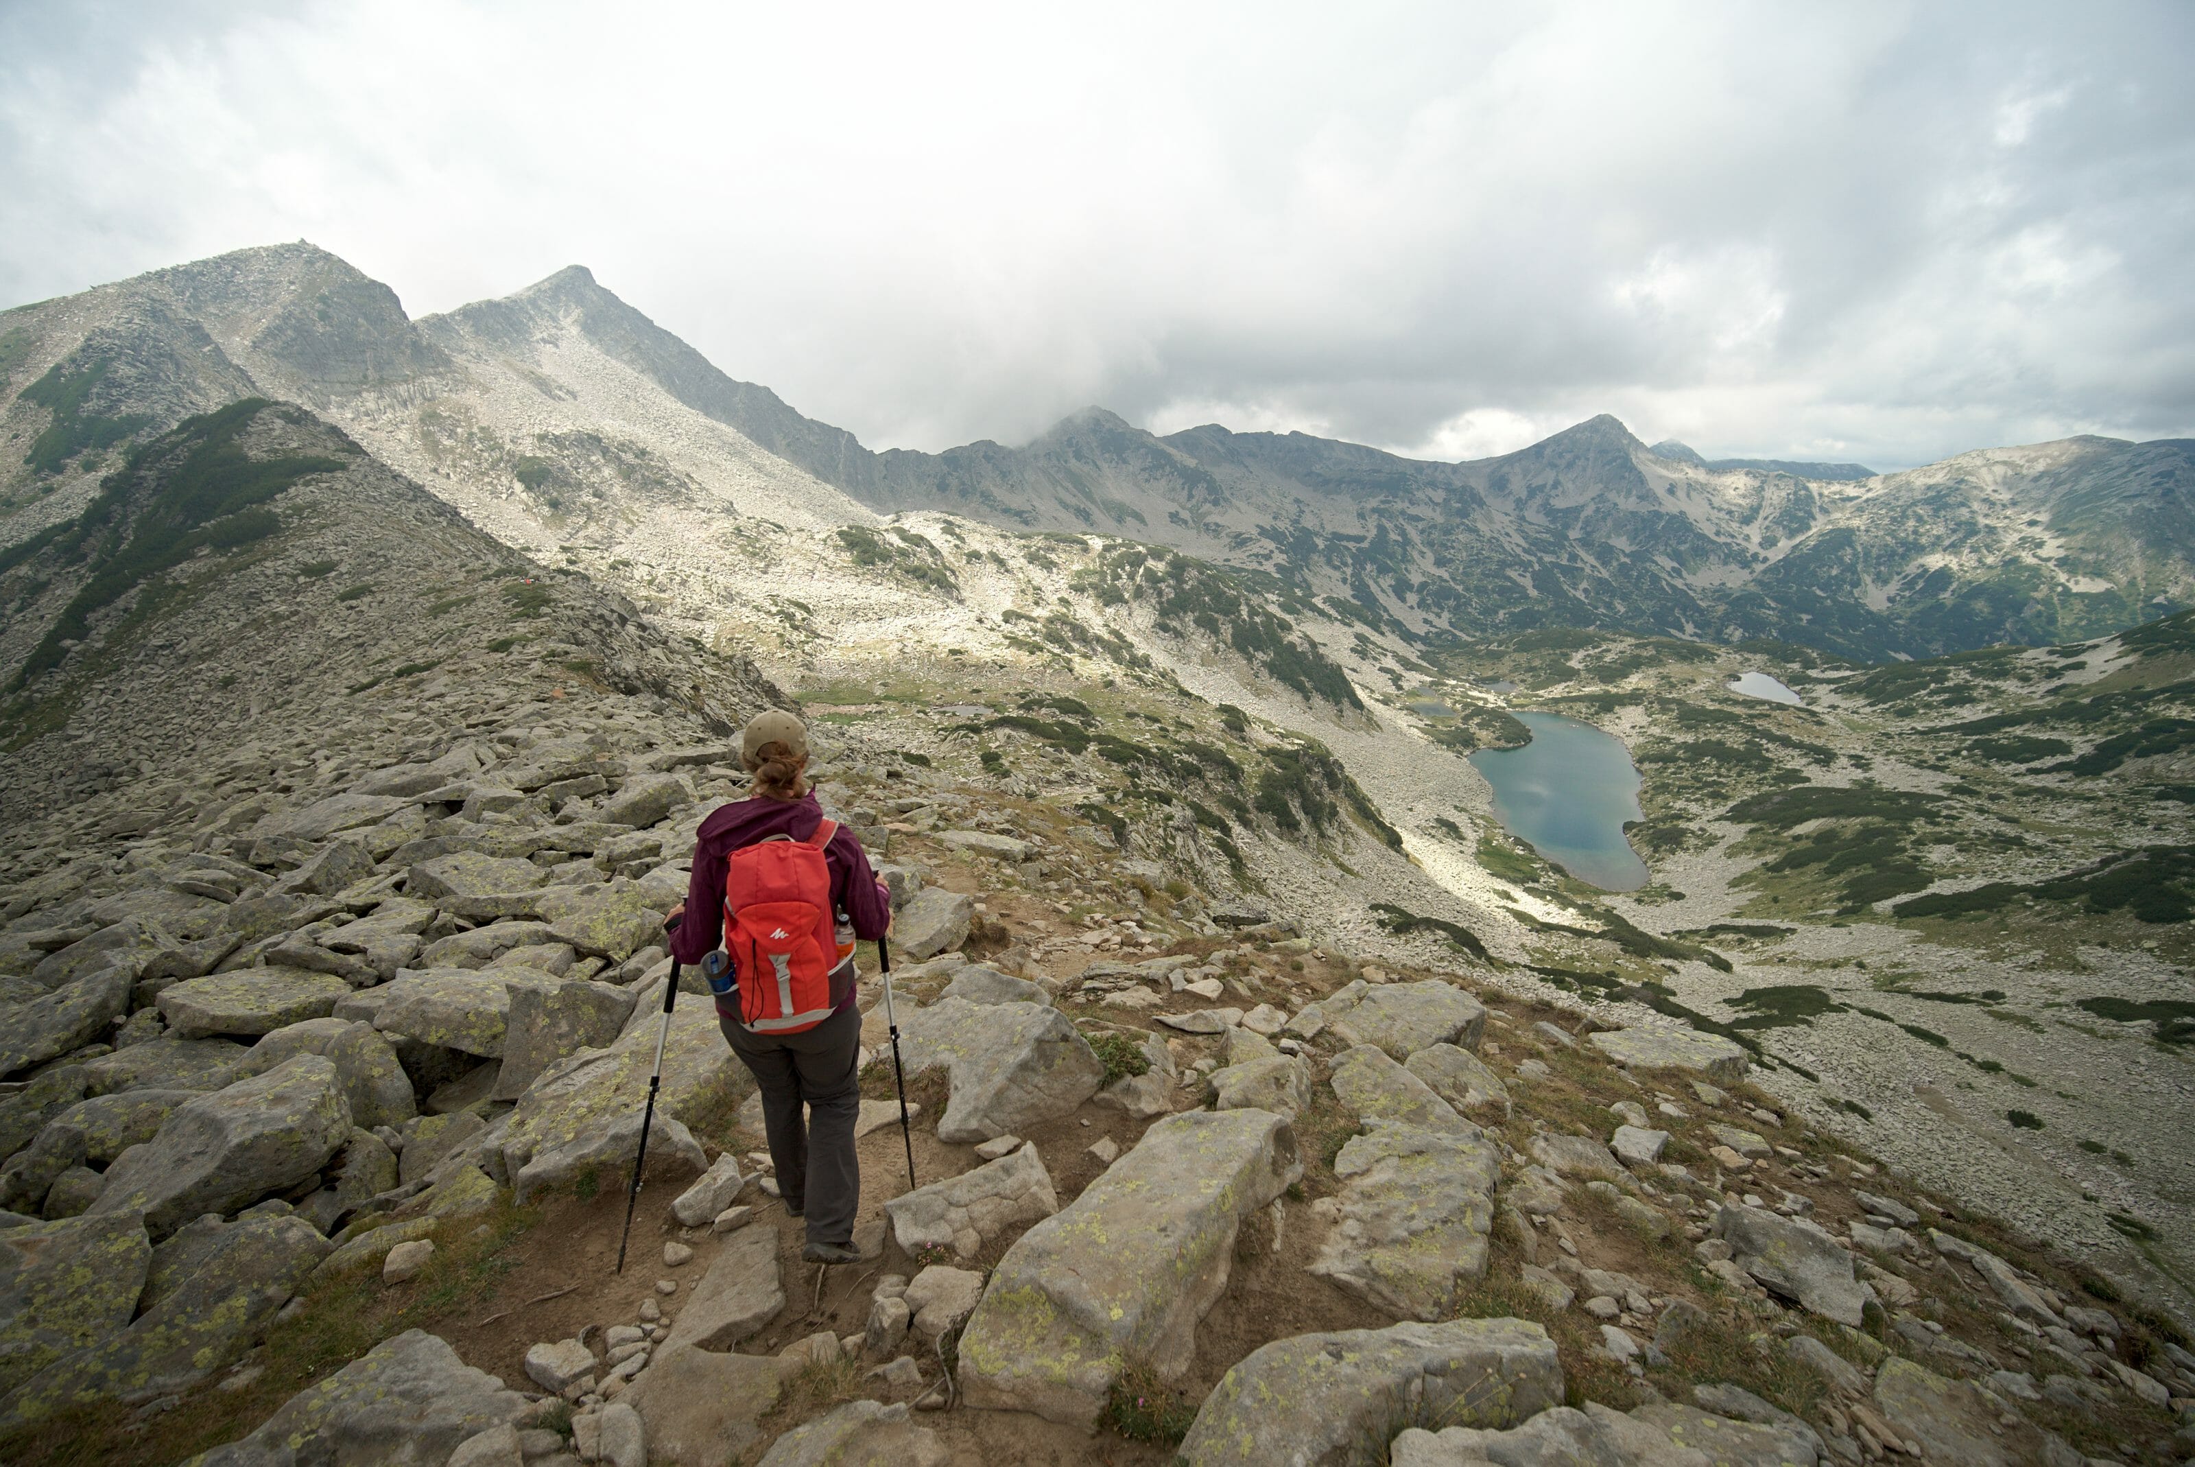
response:
[(1517, 714), (1523, 749), (1479, 749), (1471, 762), (1495, 786), (1495, 819), (1519, 841), (1602, 892), (1646, 885), (1624, 839), (1640, 819), (1640, 771), (1624, 740), (1561, 714)]

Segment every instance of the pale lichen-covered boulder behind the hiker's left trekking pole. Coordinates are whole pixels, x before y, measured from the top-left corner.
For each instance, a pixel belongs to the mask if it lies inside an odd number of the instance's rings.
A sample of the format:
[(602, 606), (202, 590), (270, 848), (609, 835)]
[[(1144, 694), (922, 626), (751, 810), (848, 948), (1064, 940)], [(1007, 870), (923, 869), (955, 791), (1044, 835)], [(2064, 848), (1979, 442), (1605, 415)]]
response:
[[(623, 1124), (621, 1151), (632, 1162), (639, 1144), (641, 1107), (648, 1102), (648, 1072), (656, 1056), (656, 1030), (663, 1021), (663, 988), (641, 993), (634, 1019), (608, 1050), (579, 1050), (547, 1070), (518, 1098), (509, 1127), (503, 1131), (500, 1175), (520, 1177), (536, 1157), (588, 1153), (590, 1142)], [(705, 1116), (729, 1116), (753, 1091), (755, 1078), (716, 1028), (716, 1010), (687, 1004), (672, 1015), (669, 1041), (663, 1048), (663, 1094), (656, 1116), (696, 1122)], [(650, 1157), (667, 1131), (648, 1138)], [(705, 1155), (691, 1157), (702, 1171)], [(553, 1162), (544, 1168), (553, 1171)], [(542, 1173), (536, 1173), (542, 1175)]]

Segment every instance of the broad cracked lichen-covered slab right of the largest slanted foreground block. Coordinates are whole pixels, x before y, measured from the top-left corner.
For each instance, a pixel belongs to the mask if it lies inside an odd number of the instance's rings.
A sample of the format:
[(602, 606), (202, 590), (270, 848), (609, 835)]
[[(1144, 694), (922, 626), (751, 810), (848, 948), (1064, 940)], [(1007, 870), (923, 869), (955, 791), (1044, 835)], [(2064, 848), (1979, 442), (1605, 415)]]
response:
[(1387, 1313), (1447, 1318), (1486, 1274), (1499, 1175), (1484, 1135), (1374, 1120), (1335, 1157), (1341, 1219), (1310, 1272)]

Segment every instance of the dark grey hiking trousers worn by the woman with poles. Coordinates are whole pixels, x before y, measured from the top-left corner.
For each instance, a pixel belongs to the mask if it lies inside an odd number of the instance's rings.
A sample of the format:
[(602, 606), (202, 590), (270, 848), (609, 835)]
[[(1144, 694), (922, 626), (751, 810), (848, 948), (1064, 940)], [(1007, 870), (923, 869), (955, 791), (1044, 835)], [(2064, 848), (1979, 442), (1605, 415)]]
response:
[(847, 1004), (799, 1034), (757, 1034), (720, 1010), (718, 1028), (762, 1089), (762, 1129), (770, 1138), (779, 1197), (788, 1208), (806, 1208), (810, 1243), (852, 1243), (860, 1212), (854, 1155), (860, 1010)]

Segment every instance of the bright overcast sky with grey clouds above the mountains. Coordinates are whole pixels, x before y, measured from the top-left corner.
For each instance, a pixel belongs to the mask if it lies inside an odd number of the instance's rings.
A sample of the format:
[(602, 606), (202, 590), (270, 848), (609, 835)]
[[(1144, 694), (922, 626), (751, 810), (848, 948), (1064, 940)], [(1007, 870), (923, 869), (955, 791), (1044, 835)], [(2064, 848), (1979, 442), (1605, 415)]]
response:
[[(1466, 13), (1471, 11), (1471, 13)], [(2195, 7), (0, 0), (0, 303), (566, 264), (874, 448), (2195, 435)]]

